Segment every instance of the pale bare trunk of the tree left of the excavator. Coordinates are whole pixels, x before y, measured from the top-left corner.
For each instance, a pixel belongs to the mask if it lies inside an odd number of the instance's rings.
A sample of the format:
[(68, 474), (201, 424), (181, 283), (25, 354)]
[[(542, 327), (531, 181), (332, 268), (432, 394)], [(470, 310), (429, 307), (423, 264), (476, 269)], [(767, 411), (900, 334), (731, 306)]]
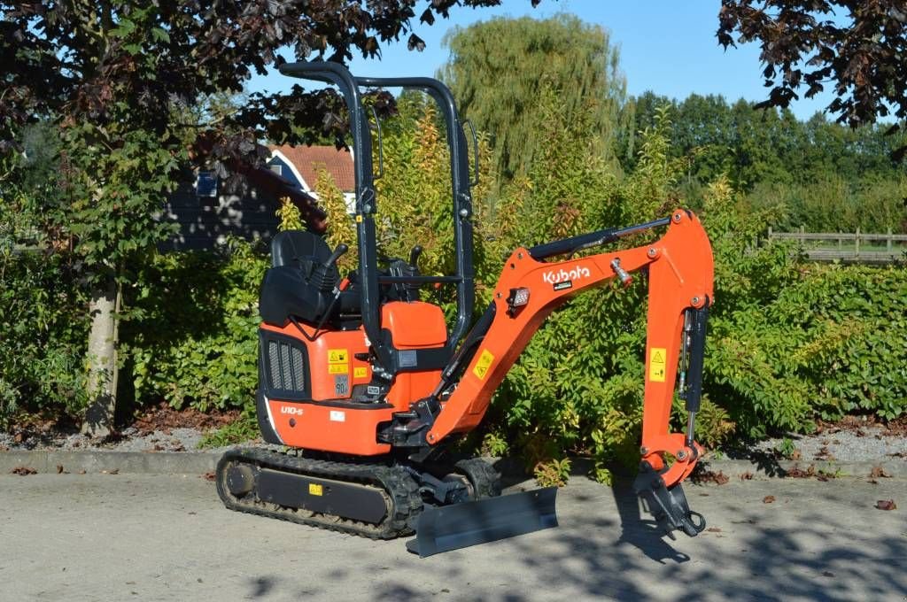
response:
[(116, 344), (117, 285), (111, 278), (94, 291), (89, 315), (92, 330), (88, 334), (88, 391), (90, 403), (85, 411), (82, 432), (104, 437), (113, 429), (116, 410)]

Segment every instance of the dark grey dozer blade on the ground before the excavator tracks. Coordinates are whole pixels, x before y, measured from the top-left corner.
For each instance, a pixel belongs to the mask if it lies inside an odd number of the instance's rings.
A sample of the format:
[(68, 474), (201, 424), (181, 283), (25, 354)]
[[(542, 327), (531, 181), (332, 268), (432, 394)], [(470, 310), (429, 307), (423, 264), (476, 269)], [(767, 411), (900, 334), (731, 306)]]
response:
[(406, 549), (420, 557), (558, 526), (557, 487), (423, 510)]

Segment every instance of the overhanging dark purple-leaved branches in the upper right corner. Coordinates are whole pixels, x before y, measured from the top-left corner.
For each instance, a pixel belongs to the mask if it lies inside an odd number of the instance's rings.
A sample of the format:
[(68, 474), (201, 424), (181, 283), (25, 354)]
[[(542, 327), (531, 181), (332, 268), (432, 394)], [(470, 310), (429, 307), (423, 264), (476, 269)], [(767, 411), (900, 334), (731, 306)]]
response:
[[(758, 42), (768, 98), (786, 107), (832, 83), (827, 112), (852, 128), (907, 120), (907, 6), (902, 0), (722, 0), (718, 43)], [(736, 40), (734, 35), (736, 34)], [(897, 129), (892, 126), (892, 131)], [(896, 151), (898, 160), (907, 146)]]

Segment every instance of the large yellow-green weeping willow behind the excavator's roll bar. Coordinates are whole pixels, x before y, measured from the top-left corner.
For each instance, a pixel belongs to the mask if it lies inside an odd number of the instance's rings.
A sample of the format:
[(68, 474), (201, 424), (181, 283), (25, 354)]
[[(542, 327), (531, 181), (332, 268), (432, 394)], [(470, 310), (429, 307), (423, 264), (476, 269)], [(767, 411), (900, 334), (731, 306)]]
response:
[(617, 115), (626, 82), (618, 50), (598, 25), (572, 15), (543, 21), (495, 18), (455, 27), (444, 37), (450, 57), (441, 77), (463, 114), (492, 136), (499, 170), (524, 173), (540, 151), (543, 112), (539, 98), (550, 88), (560, 110), (575, 121), (593, 115), (601, 156), (613, 159)]

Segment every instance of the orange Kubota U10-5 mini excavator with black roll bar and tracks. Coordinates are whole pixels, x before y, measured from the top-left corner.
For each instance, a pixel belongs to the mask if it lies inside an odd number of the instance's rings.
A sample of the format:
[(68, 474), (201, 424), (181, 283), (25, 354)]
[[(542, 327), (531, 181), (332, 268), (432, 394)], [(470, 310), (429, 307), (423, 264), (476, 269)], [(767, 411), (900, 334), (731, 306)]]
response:
[[(431, 78), (355, 77), (337, 63), (287, 63), (280, 72), (336, 85), (346, 102), (358, 262), (341, 277), (336, 262), (345, 245), (331, 249), (311, 230), (273, 238), (259, 298), (256, 400), (262, 438), (273, 445), (223, 455), (216, 483), (224, 504), (373, 539), (415, 533), (407, 547), (423, 557), (556, 526), (555, 488), (501, 495), (491, 464), (453, 461), (446, 444), (482, 422), (494, 390), (552, 311), (587, 289), (614, 278), (628, 285), (646, 271), (645, 397), (634, 487), (672, 538), (675, 529), (689, 536), (704, 529), (681, 487), (702, 453), (693, 434), (713, 297), (712, 251), (699, 219), (677, 209), (629, 228), (517, 248), (503, 264), (493, 301), (473, 320), (474, 181), (468, 122), (451, 92)], [(421, 274), (420, 247), (408, 260), (379, 267), (372, 131), (362, 102), (369, 88), (426, 92), (444, 116), (453, 274)], [(600, 251), (654, 228), (666, 231), (647, 245)], [(423, 286), (455, 287), (450, 324), (440, 306), (420, 298)], [(686, 432), (671, 433), (676, 392), (688, 424)]]

